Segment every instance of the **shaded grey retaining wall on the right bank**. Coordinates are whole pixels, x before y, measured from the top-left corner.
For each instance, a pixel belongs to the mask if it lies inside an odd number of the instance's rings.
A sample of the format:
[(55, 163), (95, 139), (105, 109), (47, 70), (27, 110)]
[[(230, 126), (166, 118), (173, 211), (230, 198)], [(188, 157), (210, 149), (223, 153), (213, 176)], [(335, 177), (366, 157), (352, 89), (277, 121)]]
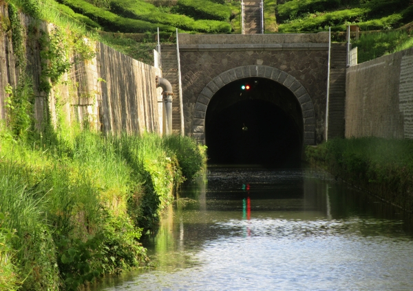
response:
[(413, 48), (346, 72), (346, 138), (413, 138)]

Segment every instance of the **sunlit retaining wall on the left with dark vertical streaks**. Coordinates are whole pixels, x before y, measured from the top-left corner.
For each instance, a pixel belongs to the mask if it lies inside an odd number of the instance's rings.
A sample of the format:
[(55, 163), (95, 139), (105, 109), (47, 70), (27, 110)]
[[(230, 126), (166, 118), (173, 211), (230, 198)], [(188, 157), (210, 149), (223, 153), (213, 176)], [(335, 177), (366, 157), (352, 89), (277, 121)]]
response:
[[(0, 19), (7, 24), (6, 5), (0, 5)], [(39, 90), (39, 38), (41, 34), (50, 35), (53, 25), (34, 21), (24, 14), (20, 19), (26, 30), (28, 66), (25, 71), (33, 82), (33, 114), (39, 129), (45, 126), (45, 120), (50, 119), (56, 124), (64, 115), (68, 122), (86, 122), (103, 132), (161, 131), (162, 112), (158, 97), (162, 89), (156, 89), (156, 75), (161, 76), (160, 69), (120, 54), (102, 43), (92, 43), (96, 49), (95, 58), (82, 61), (79, 56), (70, 56), (73, 64), (70, 71), (47, 96)], [(34, 29), (28, 32), (28, 27)], [(5, 86), (10, 84), (16, 88), (20, 71), (13, 54), (11, 32), (0, 28), (0, 119), (6, 119), (5, 100), (8, 95)]]

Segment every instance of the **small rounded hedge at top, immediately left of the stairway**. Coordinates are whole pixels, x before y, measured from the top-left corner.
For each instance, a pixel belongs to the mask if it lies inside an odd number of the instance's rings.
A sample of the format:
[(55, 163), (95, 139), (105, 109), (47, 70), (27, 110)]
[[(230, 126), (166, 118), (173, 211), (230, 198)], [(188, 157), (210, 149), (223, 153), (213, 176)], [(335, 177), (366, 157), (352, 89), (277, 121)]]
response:
[(193, 17), (193, 19), (210, 19), (229, 21), (231, 8), (204, 0), (178, 0), (173, 12)]

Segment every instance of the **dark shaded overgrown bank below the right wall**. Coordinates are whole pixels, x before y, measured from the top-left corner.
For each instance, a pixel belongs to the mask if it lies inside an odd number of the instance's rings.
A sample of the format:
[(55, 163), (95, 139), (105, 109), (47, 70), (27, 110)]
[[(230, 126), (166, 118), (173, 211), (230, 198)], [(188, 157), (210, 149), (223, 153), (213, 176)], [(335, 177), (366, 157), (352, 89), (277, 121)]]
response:
[(306, 148), (306, 159), (336, 178), (413, 211), (413, 141), (409, 139), (331, 139)]

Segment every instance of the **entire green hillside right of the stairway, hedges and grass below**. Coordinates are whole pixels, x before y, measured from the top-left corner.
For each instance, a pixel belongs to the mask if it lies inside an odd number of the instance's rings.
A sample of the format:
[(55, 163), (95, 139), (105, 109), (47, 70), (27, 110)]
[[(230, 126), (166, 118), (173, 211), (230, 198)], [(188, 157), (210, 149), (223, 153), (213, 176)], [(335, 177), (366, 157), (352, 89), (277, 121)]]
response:
[[(265, 1), (266, 5), (273, 2)], [(273, 15), (278, 32), (319, 32), (331, 27), (333, 40), (339, 41), (346, 25), (358, 25), (361, 37), (352, 46), (359, 47), (359, 62), (413, 45), (411, 28), (403, 28), (413, 21), (413, 3), (408, 0), (278, 0)]]

